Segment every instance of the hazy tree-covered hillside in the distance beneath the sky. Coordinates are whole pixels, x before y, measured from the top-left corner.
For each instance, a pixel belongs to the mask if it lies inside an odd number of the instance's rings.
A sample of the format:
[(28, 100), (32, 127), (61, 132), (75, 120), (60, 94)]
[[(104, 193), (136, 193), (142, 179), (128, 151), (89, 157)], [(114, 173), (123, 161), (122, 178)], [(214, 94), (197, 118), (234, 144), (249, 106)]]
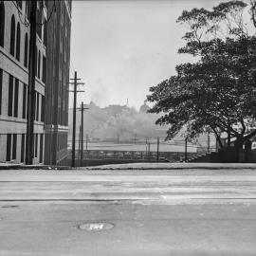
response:
[[(107, 141), (145, 141), (156, 137), (165, 137), (167, 127), (155, 125), (157, 115), (148, 114), (148, 106), (144, 103), (140, 110), (125, 105), (109, 105), (101, 108), (94, 102), (84, 107), (84, 135), (90, 140)], [(73, 109), (69, 109), (69, 139), (72, 135)], [(81, 111), (77, 111), (77, 136), (81, 124)]]

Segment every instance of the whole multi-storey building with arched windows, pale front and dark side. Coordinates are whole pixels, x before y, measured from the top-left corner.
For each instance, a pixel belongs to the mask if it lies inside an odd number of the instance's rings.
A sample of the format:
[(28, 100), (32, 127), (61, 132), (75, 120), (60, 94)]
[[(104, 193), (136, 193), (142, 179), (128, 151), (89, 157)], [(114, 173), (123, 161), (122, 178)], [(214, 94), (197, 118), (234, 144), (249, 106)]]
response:
[[(25, 162), (30, 7), (0, 1), (0, 161)], [(37, 3), (34, 163), (64, 164), (70, 13), (71, 1)]]

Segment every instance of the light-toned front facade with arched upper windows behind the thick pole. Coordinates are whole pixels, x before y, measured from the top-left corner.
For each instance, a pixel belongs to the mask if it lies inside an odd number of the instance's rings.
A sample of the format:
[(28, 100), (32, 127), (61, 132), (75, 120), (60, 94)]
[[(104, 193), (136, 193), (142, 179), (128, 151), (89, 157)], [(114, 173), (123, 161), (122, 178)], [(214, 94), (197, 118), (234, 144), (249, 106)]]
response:
[[(43, 3), (41, 3), (43, 4)], [(25, 162), (29, 27), (27, 1), (0, 1), (0, 161)], [(40, 11), (40, 5), (38, 6)], [(46, 18), (44, 9), (42, 18)], [(34, 163), (44, 162), (46, 44), (37, 29)]]

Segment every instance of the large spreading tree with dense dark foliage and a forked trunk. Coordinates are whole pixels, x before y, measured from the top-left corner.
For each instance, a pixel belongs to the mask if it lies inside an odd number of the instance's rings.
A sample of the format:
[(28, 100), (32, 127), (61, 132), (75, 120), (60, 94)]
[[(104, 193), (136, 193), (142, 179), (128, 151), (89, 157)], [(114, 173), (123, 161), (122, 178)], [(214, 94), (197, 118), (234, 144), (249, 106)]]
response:
[(197, 62), (176, 66), (176, 76), (150, 88), (151, 113), (158, 124), (171, 124), (169, 137), (186, 126), (195, 137), (209, 128), (236, 138), (239, 161), (243, 145), (256, 135), (256, 37), (245, 27), (242, 1), (221, 3), (212, 10), (183, 11), (178, 22), (189, 25), (180, 53)]

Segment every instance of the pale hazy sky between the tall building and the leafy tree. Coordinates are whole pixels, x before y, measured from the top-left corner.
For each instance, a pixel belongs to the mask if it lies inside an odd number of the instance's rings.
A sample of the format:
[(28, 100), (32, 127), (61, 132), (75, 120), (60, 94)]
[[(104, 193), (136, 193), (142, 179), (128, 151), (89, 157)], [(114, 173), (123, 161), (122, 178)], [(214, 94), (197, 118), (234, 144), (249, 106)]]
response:
[[(192, 60), (177, 54), (183, 9), (210, 8), (219, 0), (73, 1), (71, 61), (86, 82), (79, 101), (137, 108), (149, 87)], [(70, 98), (72, 102), (72, 98)]]

